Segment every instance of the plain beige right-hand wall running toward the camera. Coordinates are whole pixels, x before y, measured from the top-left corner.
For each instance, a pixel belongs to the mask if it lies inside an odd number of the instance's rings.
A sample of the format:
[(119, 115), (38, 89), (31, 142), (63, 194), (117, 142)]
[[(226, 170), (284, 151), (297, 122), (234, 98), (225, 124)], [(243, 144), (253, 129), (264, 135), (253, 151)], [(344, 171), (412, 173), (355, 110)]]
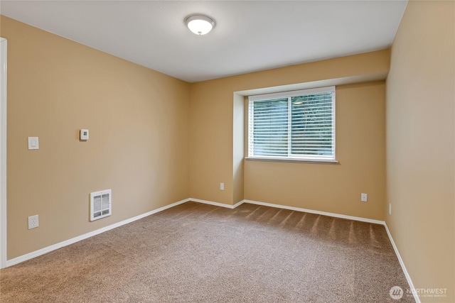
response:
[(416, 288), (455, 302), (455, 5), (410, 1), (387, 77), (386, 222)]

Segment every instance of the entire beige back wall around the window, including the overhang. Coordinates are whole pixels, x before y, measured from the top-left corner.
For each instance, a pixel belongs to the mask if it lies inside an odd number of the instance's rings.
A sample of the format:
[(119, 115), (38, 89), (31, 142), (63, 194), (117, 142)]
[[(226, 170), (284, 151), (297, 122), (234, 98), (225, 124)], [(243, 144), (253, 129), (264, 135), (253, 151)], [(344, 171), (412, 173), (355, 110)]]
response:
[[(337, 87), (339, 165), (241, 161), (242, 94), (252, 89), (310, 83), (328, 85), (385, 79), (389, 50), (311, 62), (191, 85), (190, 195), (235, 204), (245, 199), (383, 219), (385, 203), (385, 86)], [(312, 84), (311, 84), (312, 83)], [(294, 88), (295, 89), (295, 88)], [(237, 117), (237, 118), (236, 118)], [(245, 175), (235, 167), (244, 165)], [(232, 170), (234, 167), (234, 170)], [(242, 180), (243, 178), (243, 180)], [(305, 180), (302, 186), (300, 181)], [(225, 183), (221, 191), (219, 184)], [(286, 184), (289, 182), (289, 184)], [(328, 185), (327, 182), (330, 182)], [(360, 202), (360, 193), (369, 202)]]

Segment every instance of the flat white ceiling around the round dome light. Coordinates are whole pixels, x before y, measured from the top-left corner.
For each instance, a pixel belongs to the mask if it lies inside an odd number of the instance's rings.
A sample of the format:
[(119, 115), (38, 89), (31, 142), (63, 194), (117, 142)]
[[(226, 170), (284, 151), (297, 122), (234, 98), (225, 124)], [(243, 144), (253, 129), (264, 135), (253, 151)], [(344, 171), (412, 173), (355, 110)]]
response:
[[(187, 82), (390, 47), (407, 1), (4, 1), (1, 14)], [(191, 13), (215, 18), (191, 33)]]

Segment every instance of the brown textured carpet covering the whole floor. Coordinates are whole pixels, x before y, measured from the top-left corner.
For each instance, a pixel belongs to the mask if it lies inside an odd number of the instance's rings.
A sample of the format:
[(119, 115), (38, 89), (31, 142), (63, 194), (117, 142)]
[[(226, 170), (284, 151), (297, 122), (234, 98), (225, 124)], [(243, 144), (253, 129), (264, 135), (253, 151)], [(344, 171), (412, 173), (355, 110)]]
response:
[(1, 302), (414, 302), (384, 226), (188, 202), (0, 270)]

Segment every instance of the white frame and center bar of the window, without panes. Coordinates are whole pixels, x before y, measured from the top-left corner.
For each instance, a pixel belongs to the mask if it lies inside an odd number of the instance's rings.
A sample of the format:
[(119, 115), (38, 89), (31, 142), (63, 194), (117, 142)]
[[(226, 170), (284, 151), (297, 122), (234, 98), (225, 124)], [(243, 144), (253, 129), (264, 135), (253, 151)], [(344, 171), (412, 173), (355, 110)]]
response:
[[(288, 137), (288, 155), (287, 156), (269, 156), (269, 155), (253, 155), (253, 102), (272, 99), (288, 99), (288, 116), (291, 115), (291, 97), (304, 96), (306, 94), (332, 93), (332, 146), (333, 155), (292, 155), (291, 154), (291, 136)], [(336, 92), (335, 86), (319, 87), (314, 89), (301, 89), (291, 92), (277, 92), (272, 94), (259, 94), (248, 97), (248, 155), (247, 160), (271, 160), (271, 161), (290, 161), (290, 162), (331, 162), (338, 163), (336, 160)], [(288, 119), (288, 129), (291, 133), (291, 119)]]

